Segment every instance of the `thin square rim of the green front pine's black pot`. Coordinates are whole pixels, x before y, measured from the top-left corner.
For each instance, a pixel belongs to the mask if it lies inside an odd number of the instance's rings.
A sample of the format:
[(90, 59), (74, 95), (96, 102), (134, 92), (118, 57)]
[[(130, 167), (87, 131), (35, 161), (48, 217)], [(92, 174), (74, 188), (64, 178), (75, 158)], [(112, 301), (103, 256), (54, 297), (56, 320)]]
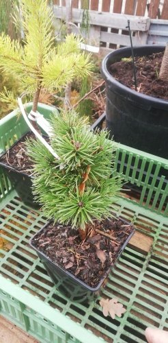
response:
[(122, 217), (116, 217), (116, 219), (122, 220), (122, 222), (128, 223), (130, 226), (132, 226), (132, 231), (131, 231), (131, 233), (128, 235), (128, 237), (126, 238), (126, 241), (125, 241), (124, 244), (122, 245), (121, 249), (119, 250), (119, 252), (118, 252), (118, 254), (117, 254), (117, 257), (116, 257), (116, 259), (115, 259), (114, 264), (113, 264), (113, 265), (110, 265), (110, 267), (109, 267), (109, 269), (107, 270), (106, 274), (104, 275), (103, 279), (100, 280), (100, 282), (98, 283), (98, 285), (97, 285), (96, 287), (91, 287), (91, 286), (87, 285), (84, 281), (78, 279), (74, 274), (68, 272), (68, 270), (62, 268), (60, 265), (58, 265), (58, 264), (56, 264), (55, 262), (53, 262), (49, 257), (47, 257), (47, 256), (44, 254), (44, 252), (39, 251), (36, 247), (33, 246), (33, 244), (32, 244), (33, 238), (36, 237), (36, 235), (37, 235), (38, 233), (40, 233), (40, 231), (44, 230), (44, 228), (45, 228), (49, 223), (53, 222), (53, 220), (49, 220), (48, 222), (46, 222), (46, 224), (45, 224), (44, 226), (42, 226), (42, 228), (40, 228), (40, 230), (38, 230), (38, 232), (35, 233), (35, 234), (33, 235), (33, 237), (31, 237), (31, 238), (29, 239), (29, 245), (31, 246), (31, 248), (33, 248), (33, 250), (36, 250), (36, 252), (40, 252), (40, 254), (41, 254), (45, 259), (48, 259), (51, 263), (53, 263), (54, 265), (56, 265), (57, 268), (59, 268), (61, 271), (66, 272), (66, 274), (68, 274), (68, 276), (70, 276), (71, 279), (74, 279), (74, 280), (75, 280), (77, 283), (79, 283), (81, 286), (87, 288), (87, 290), (92, 291), (92, 292), (96, 292), (96, 291), (98, 291), (98, 289), (100, 289), (102, 283), (104, 282), (104, 280), (105, 280), (105, 279), (107, 278), (107, 276), (109, 275), (109, 272), (110, 272), (111, 268), (114, 267), (114, 265), (115, 265), (117, 259), (120, 257), (122, 251), (124, 250), (124, 248), (125, 248), (126, 245), (128, 244), (128, 241), (130, 240), (130, 238), (132, 237), (132, 235), (134, 235), (134, 233), (135, 233), (135, 226), (134, 226), (132, 223), (127, 222), (127, 221), (126, 221), (125, 219), (123, 219)]

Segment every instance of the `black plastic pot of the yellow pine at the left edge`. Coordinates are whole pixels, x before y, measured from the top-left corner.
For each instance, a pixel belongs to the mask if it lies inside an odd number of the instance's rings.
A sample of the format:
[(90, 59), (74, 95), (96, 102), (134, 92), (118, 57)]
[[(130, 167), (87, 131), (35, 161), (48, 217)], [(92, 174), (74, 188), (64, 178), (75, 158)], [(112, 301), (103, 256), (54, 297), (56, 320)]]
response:
[[(14, 145), (16, 145), (19, 141), (21, 141), (25, 137), (25, 135), (26, 134), (24, 134), (23, 137), (21, 137), (18, 141), (16, 141), (10, 147), (10, 149), (12, 149)], [(8, 154), (8, 151), (3, 153), (0, 156), (0, 166), (5, 169), (6, 174), (8, 175), (8, 178), (10, 179), (12, 187), (14, 187), (14, 189), (16, 189), (16, 192), (18, 193), (18, 197), (28, 206), (31, 206), (33, 208), (35, 207), (38, 208), (40, 205), (38, 204), (38, 202), (34, 201), (34, 196), (32, 193), (32, 187), (33, 187), (32, 177), (25, 174), (22, 171), (16, 170), (14, 167), (8, 165), (8, 163), (4, 163), (4, 161), (1, 161), (1, 158), (5, 156), (5, 154)]]

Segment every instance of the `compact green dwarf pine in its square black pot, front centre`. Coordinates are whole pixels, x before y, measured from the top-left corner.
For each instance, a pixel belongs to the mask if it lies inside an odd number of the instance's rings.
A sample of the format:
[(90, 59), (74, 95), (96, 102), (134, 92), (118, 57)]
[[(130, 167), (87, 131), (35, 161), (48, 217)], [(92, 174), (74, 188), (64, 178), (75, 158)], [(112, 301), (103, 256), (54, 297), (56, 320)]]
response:
[(113, 218), (122, 176), (113, 173), (116, 143), (87, 119), (62, 111), (51, 119), (51, 146), (27, 141), (33, 163), (33, 193), (48, 224), (30, 244), (56, 287), (68, 298), (98, 294), (134, 229)]

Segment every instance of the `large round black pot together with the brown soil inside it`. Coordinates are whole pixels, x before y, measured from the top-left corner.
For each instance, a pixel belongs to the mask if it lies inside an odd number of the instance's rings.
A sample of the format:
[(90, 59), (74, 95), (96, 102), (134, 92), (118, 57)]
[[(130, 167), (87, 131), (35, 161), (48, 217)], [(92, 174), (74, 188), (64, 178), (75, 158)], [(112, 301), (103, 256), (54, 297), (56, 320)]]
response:
[[(164, 50), (162, 60), (159, 56)], [(130, 47), (117, 49), (102, 61), (102, 74), (107, 86), (107, 128), (115, 141), (167, 158), (168, 94), (165, 93), (168, 86), (168, 46), (165, 49), (164, 46), (142, 45), (133, 47), (133, 51), (137, 89)]]

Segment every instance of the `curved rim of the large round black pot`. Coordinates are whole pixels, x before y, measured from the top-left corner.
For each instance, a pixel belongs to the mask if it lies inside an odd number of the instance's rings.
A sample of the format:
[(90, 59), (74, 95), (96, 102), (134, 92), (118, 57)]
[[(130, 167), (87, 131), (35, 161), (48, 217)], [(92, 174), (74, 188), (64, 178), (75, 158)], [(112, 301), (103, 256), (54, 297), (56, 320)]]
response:
[[(143, 48), (151, 48), (151, 47), (160, 47), (160, 48), (164, 48), (164, 45), (136, 45), (135, 47), (133, 47), (133, 49), (143, 49)], [(132, 90), (131, 88), (129, 88), (128, 86), (125, 86), (124, 84), (120, 83), (119, 81), (117, 81), (113, 75), (111, 75), (107, 69), (107, 60), (109, 58), (109, 56), (111, 55), (117, 55), (117, 53), (120, 53), (120, 51), (124, 51), (124, 50), (130, 50), (130, 47), (121, 47), (119, 49), (115, 49), (114, 51), (111, 51), (109, 54), (107, 54), (107, 56), (105, 56), (102, 60), (102, 67), (101, 67), (101, 72), (102, 75), (104, 76), (104, 80), (105, 82), (111, 82), (111, 84), (113, 84), (115, 86), (115, 88), (117, 89), (121, 89), (122, 92), (126, 92), (128, 94), (130, 94), (132, 97), (137, 97), (138, 99), (144, 99), (146, 102), (152, 102), (153, 104), (160, 104), (160, 105), (164, 105), (164, 106), (168, 106), (168, 99), (160, 99), (151, 95), (146, 95), (143, 93), (138, 93), (137, 91)], [(102, 70), (103, 68), (103, 70)]]

